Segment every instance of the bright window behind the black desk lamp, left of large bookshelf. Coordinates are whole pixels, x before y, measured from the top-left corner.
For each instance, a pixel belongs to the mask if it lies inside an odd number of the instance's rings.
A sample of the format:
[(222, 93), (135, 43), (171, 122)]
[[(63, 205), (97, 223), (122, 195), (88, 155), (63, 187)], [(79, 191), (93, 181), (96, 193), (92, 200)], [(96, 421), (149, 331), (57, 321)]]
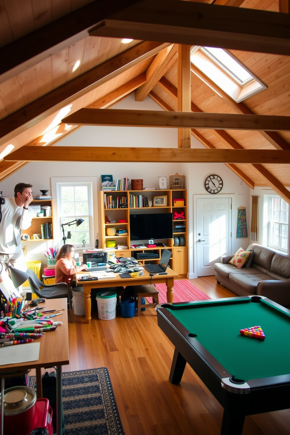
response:
[(87, 246), (92, 246), (92, 183), (57, 183), (57, 191), (60, 224), (66, 224), (76, 219), (83, 219), (83, 222), (79, 226), (76, 223), (72, 223), (63, 227), (65, 237), (69, 236), (66, 242), (73, 244), (75, 248), (80, 248), (83, 245), (83, 240), (85, 240)]

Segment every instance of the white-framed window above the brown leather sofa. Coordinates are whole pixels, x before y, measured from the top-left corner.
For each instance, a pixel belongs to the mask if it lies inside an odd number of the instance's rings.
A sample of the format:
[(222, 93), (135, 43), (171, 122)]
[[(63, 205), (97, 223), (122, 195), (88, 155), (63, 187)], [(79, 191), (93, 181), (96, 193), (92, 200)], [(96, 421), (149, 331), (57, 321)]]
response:
[(279, 196), (267, 195), (268, 228), (267, 246), (288, 252), (289, 204)]

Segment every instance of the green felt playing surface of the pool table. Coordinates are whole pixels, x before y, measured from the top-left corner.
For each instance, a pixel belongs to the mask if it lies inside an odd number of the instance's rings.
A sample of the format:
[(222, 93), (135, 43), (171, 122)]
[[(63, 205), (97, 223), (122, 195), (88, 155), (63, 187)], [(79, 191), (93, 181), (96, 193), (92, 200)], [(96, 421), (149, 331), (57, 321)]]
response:
[[(219, 301), (183, 305), (169, 311), (223, 365), (245, 381), (290, 373), (290, 316), (263, 300), (223, 305)], [(259, 325), (264, 341), (240, 335)]]

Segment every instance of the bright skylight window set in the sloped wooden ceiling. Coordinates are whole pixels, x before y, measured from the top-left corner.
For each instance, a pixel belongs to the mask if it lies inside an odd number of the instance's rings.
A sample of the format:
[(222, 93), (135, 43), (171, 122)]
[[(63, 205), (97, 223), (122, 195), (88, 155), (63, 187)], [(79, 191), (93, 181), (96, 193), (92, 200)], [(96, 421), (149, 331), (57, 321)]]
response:
[(266, 89), (263, 82), (222, 48), (193, 47), (190, 60), (237, 103)]

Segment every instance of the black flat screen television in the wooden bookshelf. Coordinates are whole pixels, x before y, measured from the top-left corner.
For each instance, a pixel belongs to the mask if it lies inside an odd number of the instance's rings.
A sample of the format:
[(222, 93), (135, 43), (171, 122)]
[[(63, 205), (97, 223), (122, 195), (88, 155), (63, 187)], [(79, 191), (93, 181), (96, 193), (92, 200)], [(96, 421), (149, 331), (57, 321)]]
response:
[(130, 214), (130, 240), (172, 238), (172, 213)]

